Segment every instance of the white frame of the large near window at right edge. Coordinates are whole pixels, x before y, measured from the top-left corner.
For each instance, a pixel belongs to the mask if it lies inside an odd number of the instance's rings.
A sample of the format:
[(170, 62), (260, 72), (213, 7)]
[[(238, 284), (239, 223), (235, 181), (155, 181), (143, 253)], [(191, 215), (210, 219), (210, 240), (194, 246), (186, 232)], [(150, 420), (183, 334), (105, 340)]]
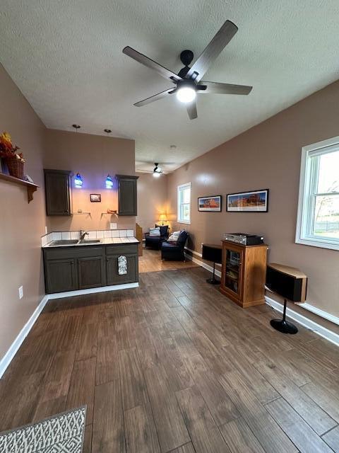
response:
[[(302, 163), (300, 167), (300, 184), (299, 184), (299, 201), (297, 214), (297, 230), (295, 242), (307, 246), (331, 248), (339, 250), (339, 239), (325, 238), (311, 234), (313, 226), (313, 212), (315, 202), (316, 178), (314, 178), (314, 168), (312, 168), (312, 156), (320, 156), (333, 151), (339, 151), (339, 137), (333, 137), (323, 142), (307, 145), (302, 147)], [(313, 164), (314, 166), (314, 164)], [(313, 188), (313, 189), (312, 189)], [(321, 194), (316, 194), (321, 195)], [(339, 193), (333, 192), (333, 195)]]

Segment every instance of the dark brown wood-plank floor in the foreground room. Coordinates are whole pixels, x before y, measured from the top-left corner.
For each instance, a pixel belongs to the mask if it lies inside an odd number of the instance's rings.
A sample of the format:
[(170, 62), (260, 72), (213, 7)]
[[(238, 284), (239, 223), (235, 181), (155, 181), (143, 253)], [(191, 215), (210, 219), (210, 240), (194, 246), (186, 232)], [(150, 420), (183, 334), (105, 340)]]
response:
[(87, 404), (85, 453), (339, 452), (338, 348), (209, 276), (49, 302), (0, 381), (0, 430)]

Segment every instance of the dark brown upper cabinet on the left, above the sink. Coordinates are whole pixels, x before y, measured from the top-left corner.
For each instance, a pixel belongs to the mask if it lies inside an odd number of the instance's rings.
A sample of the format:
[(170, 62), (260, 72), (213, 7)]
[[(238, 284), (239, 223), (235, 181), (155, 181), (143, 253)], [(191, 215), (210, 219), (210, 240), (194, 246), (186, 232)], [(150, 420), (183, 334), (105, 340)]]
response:
[(44, 170), (47, 215), (71, 215), (71, 171)]

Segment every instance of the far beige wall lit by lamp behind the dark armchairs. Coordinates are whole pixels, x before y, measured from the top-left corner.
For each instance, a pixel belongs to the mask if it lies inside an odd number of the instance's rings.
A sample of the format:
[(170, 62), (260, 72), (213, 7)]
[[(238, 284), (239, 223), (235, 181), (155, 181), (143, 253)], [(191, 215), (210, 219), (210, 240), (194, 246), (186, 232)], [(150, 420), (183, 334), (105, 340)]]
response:
[(167, 214), (167, 175), (154, 178), (152, 173), (137, 173), (138, 217), (136, 222), (143, 232), (159, 222), (160, 214)]

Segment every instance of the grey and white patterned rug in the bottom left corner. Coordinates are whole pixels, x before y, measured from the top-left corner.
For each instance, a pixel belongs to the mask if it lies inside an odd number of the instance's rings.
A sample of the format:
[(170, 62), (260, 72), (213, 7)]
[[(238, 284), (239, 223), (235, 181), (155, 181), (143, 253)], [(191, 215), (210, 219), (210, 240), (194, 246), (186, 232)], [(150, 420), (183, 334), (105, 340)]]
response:
[(86, 407), (0, 433), (1, 453), (81, 453)]

